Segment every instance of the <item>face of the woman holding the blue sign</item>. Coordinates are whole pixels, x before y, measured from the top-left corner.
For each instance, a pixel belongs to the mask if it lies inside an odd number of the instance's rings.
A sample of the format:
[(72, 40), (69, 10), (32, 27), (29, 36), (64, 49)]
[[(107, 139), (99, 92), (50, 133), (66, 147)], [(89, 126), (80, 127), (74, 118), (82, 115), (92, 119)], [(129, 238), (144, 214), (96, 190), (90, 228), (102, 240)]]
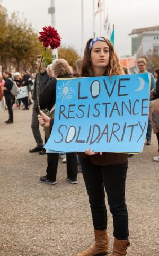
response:
[(109, 46), (106, 42), (94, 43), (91, 50), (92, 68), (104, 68), (108, 66), (110, 58)]

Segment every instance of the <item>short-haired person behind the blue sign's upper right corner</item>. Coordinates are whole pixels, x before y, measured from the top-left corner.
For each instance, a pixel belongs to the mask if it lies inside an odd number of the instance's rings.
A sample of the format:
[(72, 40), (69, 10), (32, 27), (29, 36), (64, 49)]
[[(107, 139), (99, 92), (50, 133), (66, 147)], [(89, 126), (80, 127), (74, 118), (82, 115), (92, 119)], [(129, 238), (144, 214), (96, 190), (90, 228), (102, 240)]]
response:
[[(150, 90), (152, 90), (155, 87), (155, 78), (152, 73), (148, 72), (146, 70), (146, 59), (140, 58), (137, 60), (137, 67), (139, 69), (139, 73), (148, 73), (151, 75), (151, 84), (150, 84)], [(152, 133), (152, 126), (151, 126), (151, 121), (148, 119), (148, 127), (147, 127), (147, 133), (146, 133), (146, 145), (151, 145), (151, 133)]]

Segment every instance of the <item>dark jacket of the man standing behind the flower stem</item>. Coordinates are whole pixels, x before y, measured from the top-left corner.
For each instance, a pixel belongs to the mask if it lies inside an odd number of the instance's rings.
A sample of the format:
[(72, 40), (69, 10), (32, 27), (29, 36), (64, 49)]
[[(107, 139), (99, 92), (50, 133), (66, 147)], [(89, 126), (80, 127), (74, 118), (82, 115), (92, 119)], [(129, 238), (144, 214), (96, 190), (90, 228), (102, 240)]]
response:
[[(33, 95), (32, 95), (32, 99), (34, 101), (34, 109), (38, 110), (38, 102), (37, 102), (37, 93), (36, 93), (36, 84), (37, 84), (37, 79), (38, 79), (38, 73), (36, 75), (35, 78), (35, 82), (34, 82), (34, 90), (33, 90)], [(42, 93), (43, 89), (45, 88), (45, 86), (47, 85), (47, 82), (49, 80), (49, 76), (47, 74), (47, 72), (45, 71), (44, 73), (40, 73), (40, 79), (39, 79), (39, 96)]]

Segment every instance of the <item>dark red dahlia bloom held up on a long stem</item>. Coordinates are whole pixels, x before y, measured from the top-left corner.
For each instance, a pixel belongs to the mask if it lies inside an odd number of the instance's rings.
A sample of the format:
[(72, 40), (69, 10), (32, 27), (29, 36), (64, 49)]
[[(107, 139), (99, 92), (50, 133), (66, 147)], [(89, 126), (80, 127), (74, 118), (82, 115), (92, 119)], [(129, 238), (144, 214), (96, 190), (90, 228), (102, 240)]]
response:
[(61, 37), (57, 33), (57, 30), (49, 27), (43, 27), (43, 32), (39, 32), (41, 35), (38, 39), (40, 42), (43, 43), (43, 46), (46, 48), (48, 46), (51, 47), (51, 49), (58, 48), (61, 44)]

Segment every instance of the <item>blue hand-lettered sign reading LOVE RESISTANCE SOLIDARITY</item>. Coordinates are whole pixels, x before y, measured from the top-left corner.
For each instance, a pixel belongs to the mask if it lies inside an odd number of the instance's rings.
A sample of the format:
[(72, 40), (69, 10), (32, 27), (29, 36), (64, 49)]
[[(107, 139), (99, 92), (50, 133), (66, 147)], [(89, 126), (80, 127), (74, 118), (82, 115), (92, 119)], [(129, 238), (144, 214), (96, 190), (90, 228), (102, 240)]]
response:
[(58, 80), (54, 126), (45, 148), (142, 152), (148, 113), (148, 74)]

